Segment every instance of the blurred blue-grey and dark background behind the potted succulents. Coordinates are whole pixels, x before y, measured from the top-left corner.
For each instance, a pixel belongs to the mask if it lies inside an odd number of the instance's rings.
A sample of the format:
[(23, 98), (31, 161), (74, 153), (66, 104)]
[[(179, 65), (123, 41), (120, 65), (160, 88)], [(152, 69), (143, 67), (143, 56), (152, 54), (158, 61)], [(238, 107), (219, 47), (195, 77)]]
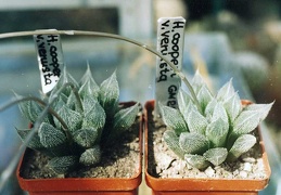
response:
[[(281, 1), (280, 0), (0, 0), (0, 34), (36, 29), (118, 34), (156, 47), (156, 21), (187, 20), (182, 70), (204, 70), (214, 90), (233, 78), (242, 99), (274, 102), (263, 123), (272, 169), (260, 194), (281, 194)], [(79, 79), (87, 67), (98, 83), (115, 69), (120, 101), (154, 99), (156, 57), (108, 38), (62, 36), (67, 70)], [(33, 37), (0, 39), (0, 104), (38, 94), (40, 77)], [(0, 113), (0, 172), (16, 153), (15, 127), (26, 127), (16, 106)], [(142, 185), (145, 187), (145, 185)], [(145, 194), (145, 190), (140, 193)], [(3, 194), (24, 194), (13, 176)]]

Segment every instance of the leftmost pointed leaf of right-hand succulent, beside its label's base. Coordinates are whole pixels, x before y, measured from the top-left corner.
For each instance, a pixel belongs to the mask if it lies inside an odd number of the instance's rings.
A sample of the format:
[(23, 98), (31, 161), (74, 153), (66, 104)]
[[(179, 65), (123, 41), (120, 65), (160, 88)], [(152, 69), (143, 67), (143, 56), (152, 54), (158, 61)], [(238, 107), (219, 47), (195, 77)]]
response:
[(179, 135), (181, 132), (188, 131), (187, 123), (178, 109), (165, 106), (159, 103), (162, 118), (168, 129), (173, 129)]

